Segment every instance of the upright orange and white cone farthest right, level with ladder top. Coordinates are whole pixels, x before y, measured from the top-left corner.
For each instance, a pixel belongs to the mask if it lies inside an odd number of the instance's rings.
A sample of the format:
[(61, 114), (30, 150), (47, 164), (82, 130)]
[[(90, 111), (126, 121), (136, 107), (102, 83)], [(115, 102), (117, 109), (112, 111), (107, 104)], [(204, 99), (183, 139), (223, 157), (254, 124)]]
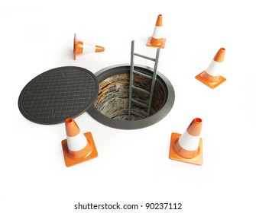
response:
[(219, 86), (219, 84), (222, 84), (226, 79), (219, 74), (219, 70), (222, 65), (221, 63), (224, 60), (224, 56), (225, 48), (220, 48), (209, 67), (204, 72), (196, 75), (196, 79), (212, 89)]

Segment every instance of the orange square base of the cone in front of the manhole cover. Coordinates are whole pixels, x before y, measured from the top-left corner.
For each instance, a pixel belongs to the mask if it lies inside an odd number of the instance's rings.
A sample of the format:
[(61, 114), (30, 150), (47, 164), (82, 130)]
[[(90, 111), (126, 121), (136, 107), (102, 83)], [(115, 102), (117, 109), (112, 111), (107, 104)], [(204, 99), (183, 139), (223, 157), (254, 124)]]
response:
[(80, 164), (80, 163), (83, 163), (84, 161), (89, 161), (92, 158), (98, 157), (98, 151), (96, 149), (96, 145), (95, 145), (94, 140), (92, 138), (92, 133), (91, 132), (86, 132), (86, 133), (83, 133), (83, 135), (85, 135), (85, 137), (87, 138), (87, 142), (92, 147), (92, 152), (89, 155), (86, 155), (84, 157), (79, 157), (79, 158), (70, 157), (70, 155), (67, 153), (67, 141), (66, 141), (66, 139), (61, 141), (66, 167), (72, 167), (76, 164)]

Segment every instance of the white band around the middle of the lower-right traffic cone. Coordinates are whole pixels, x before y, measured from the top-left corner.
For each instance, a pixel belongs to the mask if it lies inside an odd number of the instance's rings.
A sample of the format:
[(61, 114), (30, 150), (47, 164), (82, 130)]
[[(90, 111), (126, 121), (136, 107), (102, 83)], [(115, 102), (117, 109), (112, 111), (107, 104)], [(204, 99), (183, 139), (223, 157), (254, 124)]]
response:
[(195, 151), (199, 147), (199, 136), (193, 136), (186, 131), (180, 136), (179, 143), (181, 148), (187, 151)]

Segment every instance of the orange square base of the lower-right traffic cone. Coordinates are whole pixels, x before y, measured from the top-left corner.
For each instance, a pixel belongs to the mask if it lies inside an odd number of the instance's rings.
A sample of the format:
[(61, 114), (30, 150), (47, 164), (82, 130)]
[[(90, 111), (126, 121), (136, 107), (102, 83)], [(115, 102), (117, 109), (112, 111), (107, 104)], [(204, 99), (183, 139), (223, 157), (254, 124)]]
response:
[(189, 164), (196, 164), (201, 166), (203, 164), (203, 140), (202, 138), (199, 139), (199, 155), (193, 157), (191, 159), (187, 159), (181, 157), (174, 149), (174, 143), (178, 142), (177, 140), (180, 138), (181, 134), (173, 132), (170, 137), (170, 153), (169, 158), (174, 161), (182, 161)]

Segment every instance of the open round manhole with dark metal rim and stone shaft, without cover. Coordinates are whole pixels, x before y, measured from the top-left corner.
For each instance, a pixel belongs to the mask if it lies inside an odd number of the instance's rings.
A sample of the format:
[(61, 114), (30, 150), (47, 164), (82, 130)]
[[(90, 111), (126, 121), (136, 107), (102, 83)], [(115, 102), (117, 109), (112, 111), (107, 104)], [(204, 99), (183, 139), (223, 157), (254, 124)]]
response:
[[(147, 75), (153, 75), (153, 69), (135, 65), (134, 69)], [(89, 108), (88, 113), (105, 126), (116, 129), (141, 129), (159, 122), (170, 112), (174, 103), (174, 90), (170, 81), (160, 72), (154, 87), (150, 116), (147, 108), (133, 104), (131, 120), (128, 120), (128, 98), (130, 65), (113, 65), (97, 72), (99, 95)], [(134, 74), (134, 85), (150, 91), (151, 79)], [(149, 95), (133, 91), (133, 99), (147, 103)]]

